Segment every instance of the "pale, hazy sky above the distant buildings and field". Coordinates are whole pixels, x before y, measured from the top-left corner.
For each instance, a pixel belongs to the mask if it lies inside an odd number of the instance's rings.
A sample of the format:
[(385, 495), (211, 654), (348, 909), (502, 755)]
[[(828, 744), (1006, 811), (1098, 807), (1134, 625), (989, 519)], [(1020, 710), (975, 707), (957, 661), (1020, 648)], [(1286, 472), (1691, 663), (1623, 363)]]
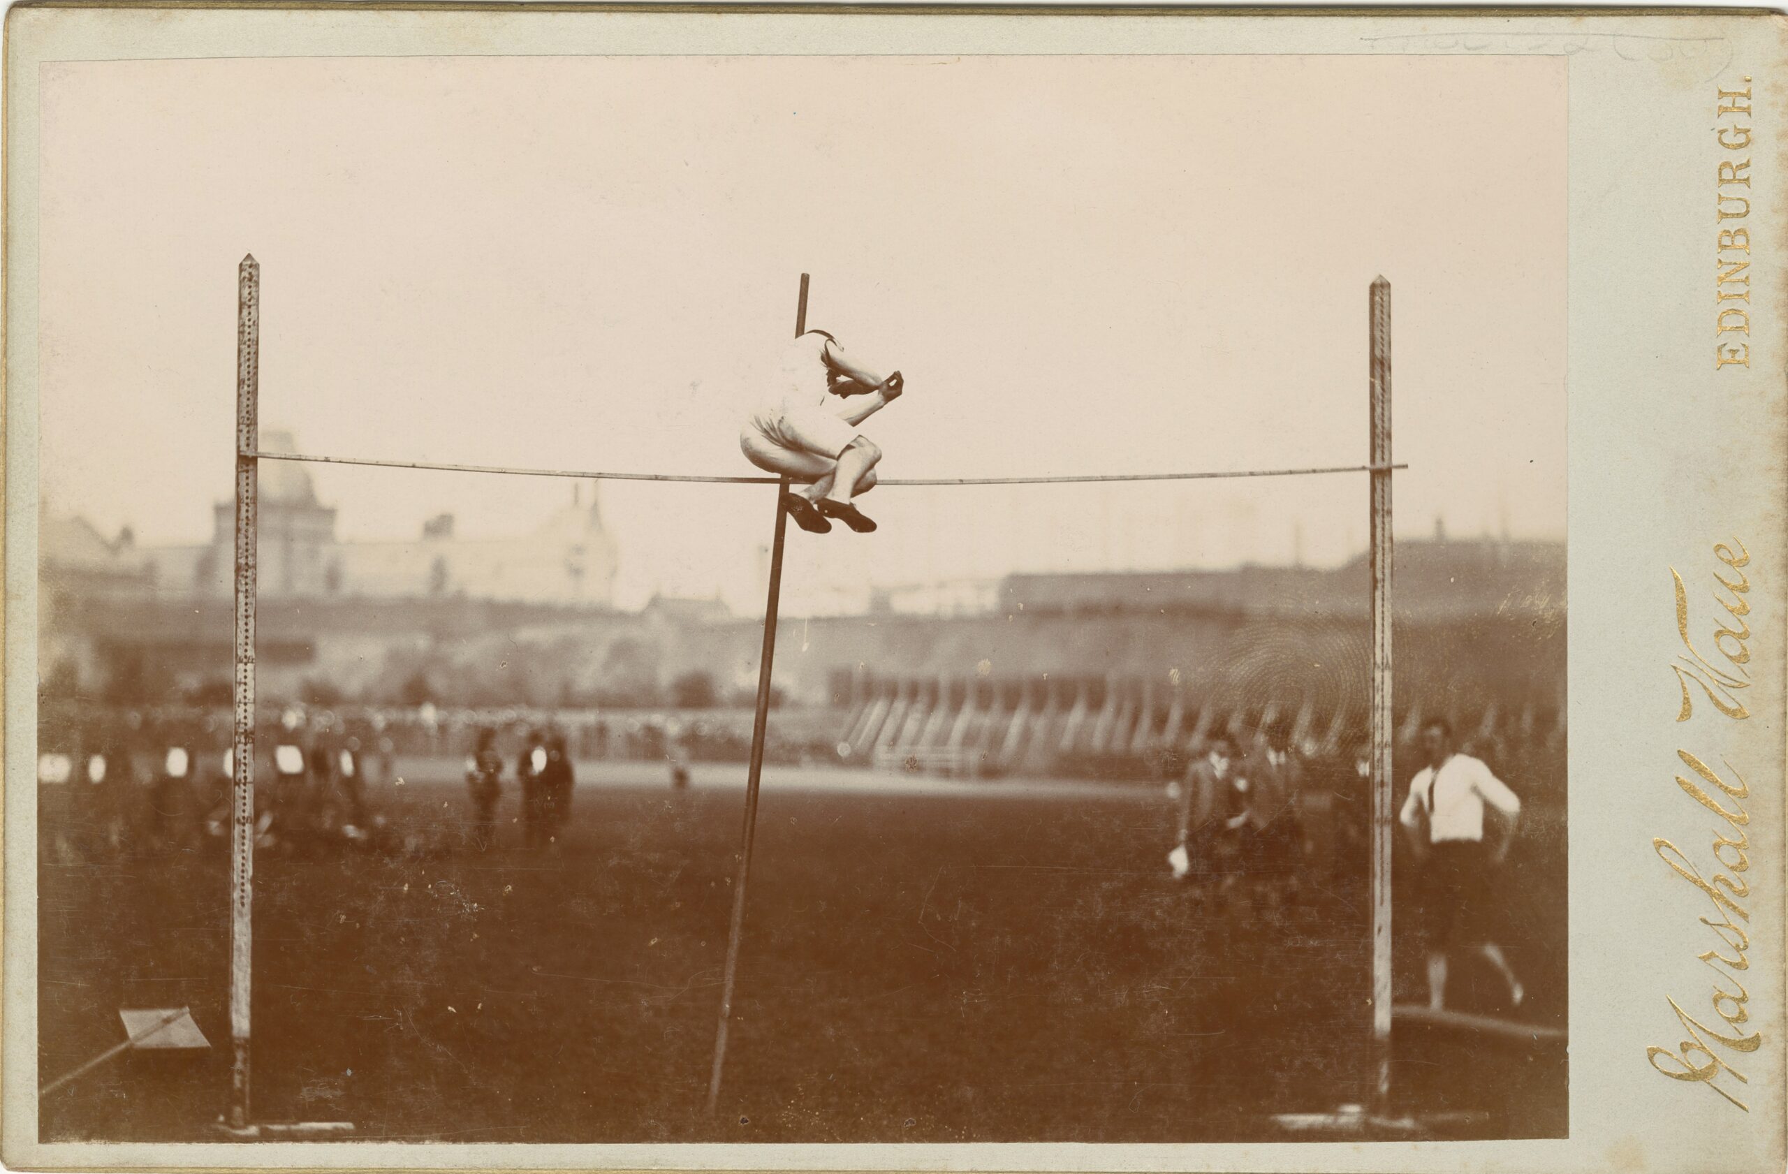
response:
[[(231, 493), (236, 263), (306, 452), (755, 474), (808, 322), (907, 397), (885, 477), (1366, 459), (1398, 532), (1564, 532), (1564, 68), (1541, 57), (458, 57), (46, 66), (43, 488), (141, 541)], [(347, 538), (531, 529), (565, 481), (313, 468)], [(762, 486), (604, 482), (622, 606), (762, 608)], [(785, 608), (1007, 570), (1334, 563), (1364, 475), (887, 488)]]

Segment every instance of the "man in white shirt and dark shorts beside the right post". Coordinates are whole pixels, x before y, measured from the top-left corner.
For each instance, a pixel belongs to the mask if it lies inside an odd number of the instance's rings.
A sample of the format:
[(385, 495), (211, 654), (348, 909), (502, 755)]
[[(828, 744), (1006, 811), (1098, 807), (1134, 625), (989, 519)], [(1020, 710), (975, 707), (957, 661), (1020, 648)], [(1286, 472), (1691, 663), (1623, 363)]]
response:
[[(1396, 817), (1423, 861), (1421, 922), (1429, 943), (1429, 1006), (1446, 1004), (1446, 954), (1464, 945), (1497, 969), (1509, 985), (1511, 1006), (1520, 1006), (1522, 983), (1502, 947), (1480, 927), (1488, 904), (1486, 881), (1493, 865), (1509, 854), (1522, 801), (1480, 759), (1454, 749), (1454, 733), (1443, 718), (1421, 727), (1429, 767), (1409, 784), (1409, 797)], [(1484, 843), (1484, 806), (1502, 817), (1504, 833), (1495, 847)]]

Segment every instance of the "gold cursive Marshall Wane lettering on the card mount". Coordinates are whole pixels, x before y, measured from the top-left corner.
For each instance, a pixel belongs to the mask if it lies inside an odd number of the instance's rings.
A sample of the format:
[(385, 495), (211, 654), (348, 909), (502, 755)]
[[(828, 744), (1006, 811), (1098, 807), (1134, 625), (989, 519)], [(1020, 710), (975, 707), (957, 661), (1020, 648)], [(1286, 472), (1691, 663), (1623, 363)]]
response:
[[(1731, 545), (1715, 545), (1713, 558), (1722, 565), (1722, 570), (1713, 572), (1716, 584), (1713, 599), (1727, 618), (1715, 629), (1711, 643), (1704, 645), (1708, 656), (1690, 638), (1688, 590), (1683, 586), (1683, 575), (1674, 566), (1670, 568), (1670, 577), (1675, 581), (1677, 636), (1684, 649), (1670, 665), (1677, 686), (1683, 690), (1677, 722), (1690, 720), (1695, 715), (1695, 706), (1702, 700), (1725, 720), (1743, 722), (1750, 718), (1750, 709), (1740, 700), (1743, 690), (1750, 688), (1750, 670), (1747, 668), (1750, 663), (1750, 625), (1745, 622), (1745, 616), (1750, 615), (1750, 604), (1745, 600), (1750, 593), (1750, 579), (1743, 572), (1743, 566), (1750, 563), (1750, 552), (1745, 543), (1734, 538)], [(1750, 786), (1725, 758), (1720, 759), (1724, 772), (1713, 770), (1690, 751), (1677, 751), (1677, 759), (1686, 767), (1686, 774), (1675, 777), (1677, 786), (1720, 820), (1715, 824), (1711, 854), (1715, 867), (1725, 872), (1704, 876), (1700, 865), (1665, 838), (1652, 840), (1652, 849), (1679, 877), (1713, 902), (1713, 917), (1702, 915), (1700, 924), (1713, 931), (1718, 945), (1697, 956), (1715, 974), (1713, 1013), (1702, 1011), (1702, 1015), (1718, 1019), (1722, 1027), (1718, 1031), (1709, 1027), (1684, 1011), (1675, 999), (1668, 999), (1670, 1010), (1688, 1031), (1688, 1038), (1675, 1051), (1647, 1047), (1645, 1056), (1652, 1069), (1670, 1079), (1700, 1081), (1749, 1113), (1750, 1106), (1722, 1088), (1720, 1081), (1731, 1076), (1742, 1085), (1749, 1083), (1743, 1072), (1727, 1063), (1725, 1056), (1750, 1054), (1763, 1045), (1759, 1031), (1745, 1029), (1745, 1022), (1750, 1019), (1745, 1006), (1750, 1002), (1750, 992), (1738, 979), (1742, 972), (1750, 969), (1750, 960), (1745, 956), (1750, 949), (1750, 935), (1745, 929), (1750, 924), (1750, 910), (1743, 904), (1750, 899), (1750, 883), (1743, 877), (1750, 870), (1750, 836), (1745, 831), (1750, 824), (1750, 813), (1740, 802), (1750, 797)]]

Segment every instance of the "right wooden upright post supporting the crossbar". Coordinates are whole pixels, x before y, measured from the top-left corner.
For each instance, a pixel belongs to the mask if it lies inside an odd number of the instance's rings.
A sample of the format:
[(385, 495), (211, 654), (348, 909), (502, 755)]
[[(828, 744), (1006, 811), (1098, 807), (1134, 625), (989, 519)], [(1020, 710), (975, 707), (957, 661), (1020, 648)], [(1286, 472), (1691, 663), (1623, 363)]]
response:
[(1391, 1094), (1391, 282), (1368, 293), (1371, 386), (1371, 1051)]

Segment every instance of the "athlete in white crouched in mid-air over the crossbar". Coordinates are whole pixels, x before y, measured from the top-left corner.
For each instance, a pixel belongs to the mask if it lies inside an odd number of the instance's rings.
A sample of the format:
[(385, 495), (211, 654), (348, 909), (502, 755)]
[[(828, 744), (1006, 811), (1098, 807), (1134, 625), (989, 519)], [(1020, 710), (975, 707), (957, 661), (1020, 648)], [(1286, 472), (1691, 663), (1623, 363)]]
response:
[(758, 468), (801, 484), (781, 495), (796, 525), (824, 534), (837, 518), (867, 534), (876, 524), (853, 499), (874, 488), (881, 450), (856, 425), (903, 390), (899, 372), (876, 375), (848, 359), (831, 334), (808, 331), (783, 352), (776, 388), (746, 418), (738, 447)]

